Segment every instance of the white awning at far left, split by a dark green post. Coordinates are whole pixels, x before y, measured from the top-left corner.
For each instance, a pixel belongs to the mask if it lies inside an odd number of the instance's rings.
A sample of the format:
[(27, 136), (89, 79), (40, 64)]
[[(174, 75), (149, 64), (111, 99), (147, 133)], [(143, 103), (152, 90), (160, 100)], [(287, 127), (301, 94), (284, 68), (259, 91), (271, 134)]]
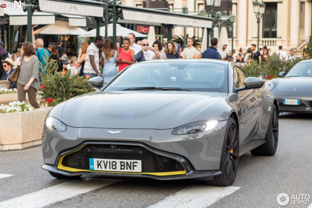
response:
[[(3, 8), (3, 13), (9, 16), (10, 25), (27, 25), (27, 12), (23, 11), (23, 8), (19, 9), (16, 7), (8, 7), (12, 2), (2, 1), (7, 5), (6, 8)], [(1, 12), (1, 11), (0, 11)], [(4, 16), (4, 14), (2, 16)], [(54, 24), (55, 15), (46, 12), (34, 12), (32, 15), (32, 24), (33, 25), (42, 25), (42, 24)]]

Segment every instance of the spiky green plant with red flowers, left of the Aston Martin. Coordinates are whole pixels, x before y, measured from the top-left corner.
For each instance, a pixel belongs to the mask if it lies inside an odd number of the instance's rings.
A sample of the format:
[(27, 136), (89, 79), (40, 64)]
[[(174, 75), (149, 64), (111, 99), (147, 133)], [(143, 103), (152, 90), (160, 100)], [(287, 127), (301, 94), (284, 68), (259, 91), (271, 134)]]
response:
[[(78, 77), (78, 74), (70, 77), (70, 71), (57, 72), (57, 68), (58, 64), (55, 60), (46, 60), (44, 69), (39, 72), (42, 82), (37, 95), (43, 100), (53, 98), (51, 105), (56, 105), (73, 97), (95, 92), (95, 89), (86, 82), (85, 77)], [(43, 101), (40, 105), (42, 103)]]

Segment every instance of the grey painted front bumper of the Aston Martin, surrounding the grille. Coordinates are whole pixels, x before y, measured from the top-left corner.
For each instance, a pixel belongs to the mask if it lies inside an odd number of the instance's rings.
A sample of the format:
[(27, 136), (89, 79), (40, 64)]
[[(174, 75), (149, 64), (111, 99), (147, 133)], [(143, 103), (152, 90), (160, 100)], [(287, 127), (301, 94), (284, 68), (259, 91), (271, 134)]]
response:
[(193, 171), (219, 170), (222, 145), (226, 130), (225, 121), (218, 121), (212, 130), (188, 135), (172, 135), (173, 129), (112, 129), (75, 128), (67, 126), (65, 132), (43, 127), (42, 153), (44, 163), (57, 167), (60, 155), (78, 148), (86, 142), (133, 142), (166, 153), (184, 157)]

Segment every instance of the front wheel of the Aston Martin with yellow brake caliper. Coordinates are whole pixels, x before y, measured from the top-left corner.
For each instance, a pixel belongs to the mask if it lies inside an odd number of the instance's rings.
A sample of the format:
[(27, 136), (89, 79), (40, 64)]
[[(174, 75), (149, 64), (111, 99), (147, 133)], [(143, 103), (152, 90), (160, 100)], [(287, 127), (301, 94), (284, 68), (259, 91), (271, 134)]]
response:
[(231, 117), (227, 122), (227, 130), (222, 147), (220, 171), (222, 174), (214, 176), (213, 180), (205, 180), (210, 186), (230, 186), (235, 181), (239, 158), (239, 140), (236, 122)]

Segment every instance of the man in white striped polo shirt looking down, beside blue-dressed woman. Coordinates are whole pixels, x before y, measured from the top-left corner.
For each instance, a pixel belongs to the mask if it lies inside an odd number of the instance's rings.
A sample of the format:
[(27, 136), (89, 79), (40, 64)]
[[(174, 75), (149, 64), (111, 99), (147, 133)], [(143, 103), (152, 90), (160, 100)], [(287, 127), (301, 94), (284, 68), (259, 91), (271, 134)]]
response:
[(99, 49), (98, 47), (103, 47), (104, 39), (102, 36), (98, 35), (95, 37), (95, 42), (87, 48), (85, 56), (85, 66), (83, 68), (83, 73), (85, 77), (89, 75), (89, 79), (96, 76), (101, 76), (99, 72), (100, 59), (99, 59)]

